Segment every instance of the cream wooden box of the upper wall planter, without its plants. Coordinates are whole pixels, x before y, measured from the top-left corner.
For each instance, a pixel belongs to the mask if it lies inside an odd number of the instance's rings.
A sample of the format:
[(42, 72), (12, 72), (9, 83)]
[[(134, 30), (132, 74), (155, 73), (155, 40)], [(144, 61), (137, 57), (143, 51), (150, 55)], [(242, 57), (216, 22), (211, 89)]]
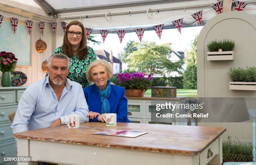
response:
[(207, 52), (207, 61), (216, 61), (216, 60), (234, 60), (234, 51), (208, 51)]

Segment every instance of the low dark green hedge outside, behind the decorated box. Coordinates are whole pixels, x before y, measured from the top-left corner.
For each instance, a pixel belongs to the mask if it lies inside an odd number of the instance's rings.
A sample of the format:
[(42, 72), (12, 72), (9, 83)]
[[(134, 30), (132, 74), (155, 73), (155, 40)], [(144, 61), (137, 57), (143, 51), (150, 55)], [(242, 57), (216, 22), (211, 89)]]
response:
[(152, 86), (176, 86), (177, 89), (182, 89), (183, 77), (153, 77)]

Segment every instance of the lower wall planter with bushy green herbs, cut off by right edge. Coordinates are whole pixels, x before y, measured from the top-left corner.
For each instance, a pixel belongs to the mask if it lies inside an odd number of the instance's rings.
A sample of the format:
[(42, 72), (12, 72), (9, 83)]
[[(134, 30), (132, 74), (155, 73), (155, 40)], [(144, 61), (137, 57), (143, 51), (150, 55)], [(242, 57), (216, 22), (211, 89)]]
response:
[(228, 70), (230, 82), (229, 89), (232, 90), (256, 90), (256, 67), (230, 68)]

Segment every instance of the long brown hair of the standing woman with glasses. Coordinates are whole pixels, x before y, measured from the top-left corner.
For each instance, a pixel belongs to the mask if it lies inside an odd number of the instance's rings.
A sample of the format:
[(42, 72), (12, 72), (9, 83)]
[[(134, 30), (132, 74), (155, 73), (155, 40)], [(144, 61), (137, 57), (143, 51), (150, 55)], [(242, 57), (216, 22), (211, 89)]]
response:
[(65, 29), (65, 34), (64, 34), (64, 38), (63, 38), (63, 53), (68, 56), (69, 58), (73, 56), (74, 51), (72, 50), (71, 44), (68, 41), (67, 35), (68, 35), (68, 30), (69, 27), (71, 25), (78, 25), (82, 28), (82, 40), (80, 42), (80, 46), (78, 48), (78, 55), (77, 57), (79, 58), (79, 60), (84, 60), (84, 58), (87, 57), (87, 38), (86, 38), (86, 33), (85, 33), (85, 29), (84, 29), (84, 25), (79, 22), (78, 20), (73, 20), (72, 22), (70, 22)]

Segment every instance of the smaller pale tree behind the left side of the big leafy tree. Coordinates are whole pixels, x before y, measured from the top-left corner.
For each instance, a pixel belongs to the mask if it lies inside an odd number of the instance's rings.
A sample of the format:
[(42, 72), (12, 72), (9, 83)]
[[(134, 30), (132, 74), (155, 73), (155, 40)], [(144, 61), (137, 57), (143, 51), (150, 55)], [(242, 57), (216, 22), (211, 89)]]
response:
[(123, 48), (122, 53), (118, 53), (118, 59), (120, 59), (122, 62), (125, 62), (125, 58), (127, 58), (133, 51), (138, 50), (138, 43), (135, 41), (129, 41), (126, 43), (125, 48)]

